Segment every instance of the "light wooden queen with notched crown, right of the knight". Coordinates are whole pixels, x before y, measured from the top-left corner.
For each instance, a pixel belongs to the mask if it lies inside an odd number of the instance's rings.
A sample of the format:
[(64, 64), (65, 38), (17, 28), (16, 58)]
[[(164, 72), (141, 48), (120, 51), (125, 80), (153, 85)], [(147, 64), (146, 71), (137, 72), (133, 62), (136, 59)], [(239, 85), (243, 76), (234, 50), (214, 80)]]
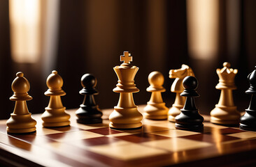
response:
[(234, 106), (232, 90), (236, 89), (234, 77), (238, 70), (230, 68), (230, 64), (223, 63), (222, 69), (216, 70), (220, 80), (216, 89), (221, 90), (220, 100), (211, 111), (211, 122), (220, 125), (238, 125), (240, 113)]

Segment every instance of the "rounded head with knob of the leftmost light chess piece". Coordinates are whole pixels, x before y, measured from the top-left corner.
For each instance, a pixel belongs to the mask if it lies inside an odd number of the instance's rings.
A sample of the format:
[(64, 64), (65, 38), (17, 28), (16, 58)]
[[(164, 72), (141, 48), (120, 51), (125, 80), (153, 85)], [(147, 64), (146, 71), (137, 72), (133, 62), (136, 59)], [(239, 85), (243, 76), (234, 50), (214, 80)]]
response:
[(27, 93), (30, 89), (29, 81), (24, 78), (22, 72), (17, 72), (16, 78), (13, 80), (12, 90), (14, 93)]

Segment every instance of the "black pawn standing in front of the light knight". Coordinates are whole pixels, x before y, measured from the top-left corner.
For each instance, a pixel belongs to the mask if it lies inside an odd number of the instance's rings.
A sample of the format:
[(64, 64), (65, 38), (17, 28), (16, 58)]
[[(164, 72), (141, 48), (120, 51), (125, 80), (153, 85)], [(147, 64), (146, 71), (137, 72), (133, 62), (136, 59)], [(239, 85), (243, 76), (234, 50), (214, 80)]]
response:
[(180, 115), (175, 118), (175, 127), (183, 130), (201, 130), (204, 125), (204, 118), (199, 114), (194, 102), (194, 97), (199, 97), (195, 90), (198, 86), (197, 79), (192, 76), (187, 76), (183, 79), (183, 87), (185, 90), (180, 96), (185, 96), (186, 102), (183, 109), (180, 109)]

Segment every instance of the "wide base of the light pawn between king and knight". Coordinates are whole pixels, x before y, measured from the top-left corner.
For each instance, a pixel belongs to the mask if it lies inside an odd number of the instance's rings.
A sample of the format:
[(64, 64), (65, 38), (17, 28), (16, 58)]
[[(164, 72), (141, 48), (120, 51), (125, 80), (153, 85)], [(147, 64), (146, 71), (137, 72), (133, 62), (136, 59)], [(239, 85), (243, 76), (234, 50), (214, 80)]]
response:
[(165, 103), (152, 103), (148, 102), (144, 108), (145, 118), (150, 120), (166, 120), (168, 114), (168, 108)]

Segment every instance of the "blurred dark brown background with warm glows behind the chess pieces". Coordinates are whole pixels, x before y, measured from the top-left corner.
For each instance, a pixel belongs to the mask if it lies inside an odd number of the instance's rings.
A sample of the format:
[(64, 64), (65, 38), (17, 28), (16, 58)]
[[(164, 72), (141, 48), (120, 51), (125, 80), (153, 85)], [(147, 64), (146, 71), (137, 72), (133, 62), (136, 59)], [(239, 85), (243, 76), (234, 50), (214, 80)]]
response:
[(146, 104), (148, 74), (164, 74), (162, 93), (166, 106), (174, 102), (169, 70), (190, 65), (199, 80), (197, 107), (209, 113), (218, 103), (217, 68), (228, 61), (239, 70), (234, 102), (248, 107), (247, 75), (256, 65), (256, 1), (254, 0), (0, 0), (0, 118), (9, 118), (14, 102), (10, 86), (18, 71), (30, 84), (27, 102), (31, 113), (43, 113), (43, 94), (52, 70), (64, 79), (67, 109), (78, 108), (80, 78), (92, 73), (98, 79), (96, 95), (101, 109), (113, 108), (118, 78), (113, 71), (120, 55), (129, 51), (140, 69), (135, 104)]

